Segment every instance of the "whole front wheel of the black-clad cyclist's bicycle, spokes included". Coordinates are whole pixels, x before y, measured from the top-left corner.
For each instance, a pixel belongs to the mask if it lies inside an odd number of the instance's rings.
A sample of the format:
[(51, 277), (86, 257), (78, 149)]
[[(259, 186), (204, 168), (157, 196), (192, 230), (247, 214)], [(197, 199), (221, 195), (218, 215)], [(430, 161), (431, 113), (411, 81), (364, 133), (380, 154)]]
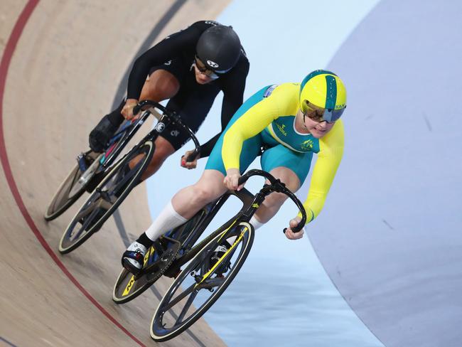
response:
[[(117, 210), (131, 189), (139, 182), (141, 174), (151, 161), (154, 149), (153, 142), (147, 141), (114, 164), (113, 169), (104, 176), (95, 191), (70, 221), (60, 240), (61, 254), (72, 252), (93, 233), (100, 230), (104, 222)], [(130, 168), (129, 164), (136, 158), (136, 164)]]

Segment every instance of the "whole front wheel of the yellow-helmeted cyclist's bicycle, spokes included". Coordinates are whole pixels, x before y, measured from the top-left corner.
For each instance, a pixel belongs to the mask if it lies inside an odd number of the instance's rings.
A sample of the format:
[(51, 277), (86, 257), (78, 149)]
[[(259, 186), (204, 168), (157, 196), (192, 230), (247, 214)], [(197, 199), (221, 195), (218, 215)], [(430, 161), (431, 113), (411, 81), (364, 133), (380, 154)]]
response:
[[(210, 257), (224, 240), (235, 241), (215, 264)], [(188, 329), (212, 306), (245, 262), (254, 238), (251, 224), (242, 222), (220, 233), (198, 252), (176, 277), (151, 320), (151, 338), (167, 341)]]

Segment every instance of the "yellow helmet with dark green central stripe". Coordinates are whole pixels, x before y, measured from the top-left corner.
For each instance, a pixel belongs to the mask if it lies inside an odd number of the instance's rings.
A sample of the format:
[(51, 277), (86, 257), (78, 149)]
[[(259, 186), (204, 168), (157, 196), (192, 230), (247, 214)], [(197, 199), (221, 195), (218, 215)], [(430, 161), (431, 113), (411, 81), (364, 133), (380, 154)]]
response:
[(335, 122), (346, 107), (346, 89), (342, 80), (327, 70), (315, 70), (300, 85), (299, 104), (306, 113), (308, 104), (324, 109), (323, 120)]

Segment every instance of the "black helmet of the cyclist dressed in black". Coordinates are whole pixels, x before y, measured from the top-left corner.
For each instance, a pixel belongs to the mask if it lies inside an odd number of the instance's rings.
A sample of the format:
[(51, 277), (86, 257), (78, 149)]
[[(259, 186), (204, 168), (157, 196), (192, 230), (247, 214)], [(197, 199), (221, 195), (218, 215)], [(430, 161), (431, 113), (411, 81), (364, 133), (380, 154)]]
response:
[(239, 36), (230, 26), (211, 26), (202, 33), (195, 54), (215, 73), (226, 73), (236, 65), (241, 53)]

